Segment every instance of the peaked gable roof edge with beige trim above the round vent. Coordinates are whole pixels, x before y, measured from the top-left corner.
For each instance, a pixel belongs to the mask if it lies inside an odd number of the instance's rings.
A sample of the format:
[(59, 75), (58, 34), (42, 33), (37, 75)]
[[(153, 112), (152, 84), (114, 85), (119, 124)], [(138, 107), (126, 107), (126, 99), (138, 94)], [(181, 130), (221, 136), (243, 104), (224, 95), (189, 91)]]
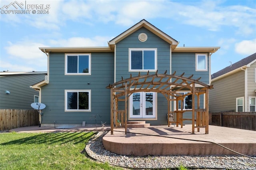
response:
[(165, 34), (164, 32), (162, 32), (161, 30), (159, 30), (158, 28), (156, 28), (155, 26), (153, 26), (152, 24), (150, 24), (148, 21), (146, 21), (145, 19), (141, 20), (140, 22), (138, 22), (137, 24), (135, 24), (134, 26), (132, 26), (131, 28), (129, 28), (128, 30), (124, 31), (123, 33), (119, 34), (118, 36), (116, 36), (115, 38), (113, 38), (112, 40), (110, 40), (108, 42), (108, 44), (110, 46), (115, 45), (116, 43), (120, 42), (121, 40), (123, 40), (124, 38), (128, 37), (130, 34), (136, 32), (137, 30), (139, 30), (140, 28), (146, 28), (148, 30), (150, 30), (151, 32), (153, 32), (154, 34), (156, 34), (158, 37), (162, 38), (164, 41), (172, 44), (172, 48), (174, 49), (177, 45), (178, 45), (178, 41), (175, 40), (174, 38), (168, 36), (167, 34)]

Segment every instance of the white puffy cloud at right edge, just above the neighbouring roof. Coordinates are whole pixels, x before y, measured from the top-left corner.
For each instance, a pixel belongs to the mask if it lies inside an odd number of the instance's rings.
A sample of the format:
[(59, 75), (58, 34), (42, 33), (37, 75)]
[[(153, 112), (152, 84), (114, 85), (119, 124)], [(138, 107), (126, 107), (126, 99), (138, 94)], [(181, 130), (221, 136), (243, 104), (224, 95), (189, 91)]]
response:
[(236, 53), (242, 55), (251, 55), (256, 53), (256, 39), (254, 40), (243, 40), (242, 42), (235, 44)]

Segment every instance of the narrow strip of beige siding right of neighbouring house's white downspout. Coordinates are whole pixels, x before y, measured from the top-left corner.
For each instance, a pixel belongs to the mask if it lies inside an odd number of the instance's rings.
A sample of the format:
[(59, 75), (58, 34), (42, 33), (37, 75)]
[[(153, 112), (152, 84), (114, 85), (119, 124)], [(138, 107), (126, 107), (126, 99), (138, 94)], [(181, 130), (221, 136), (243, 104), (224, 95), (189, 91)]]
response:
[(248, 93), (248, 111), (249, 111), (249, 98), (256, 97), (256, 62), (247, 68), (247, 93)]

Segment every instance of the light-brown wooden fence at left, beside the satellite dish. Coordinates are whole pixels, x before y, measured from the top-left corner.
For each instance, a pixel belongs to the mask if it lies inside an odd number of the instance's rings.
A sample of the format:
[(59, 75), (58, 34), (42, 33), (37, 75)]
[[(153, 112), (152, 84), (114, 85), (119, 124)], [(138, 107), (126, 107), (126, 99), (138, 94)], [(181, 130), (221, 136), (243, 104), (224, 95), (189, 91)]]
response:
[(39, 125), (37, 110), (0, 109), (0, 131)]

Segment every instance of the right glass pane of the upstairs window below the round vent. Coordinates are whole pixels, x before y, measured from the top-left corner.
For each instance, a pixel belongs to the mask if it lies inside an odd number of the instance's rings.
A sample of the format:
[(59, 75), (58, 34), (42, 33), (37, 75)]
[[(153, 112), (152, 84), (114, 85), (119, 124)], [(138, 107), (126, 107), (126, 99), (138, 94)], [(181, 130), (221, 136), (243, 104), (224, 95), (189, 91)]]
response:
[(143, 53), (143, 65), (146, 70), (155, 69), (155, 51), (144, 50)]

